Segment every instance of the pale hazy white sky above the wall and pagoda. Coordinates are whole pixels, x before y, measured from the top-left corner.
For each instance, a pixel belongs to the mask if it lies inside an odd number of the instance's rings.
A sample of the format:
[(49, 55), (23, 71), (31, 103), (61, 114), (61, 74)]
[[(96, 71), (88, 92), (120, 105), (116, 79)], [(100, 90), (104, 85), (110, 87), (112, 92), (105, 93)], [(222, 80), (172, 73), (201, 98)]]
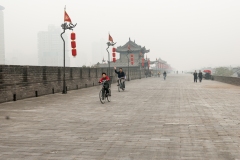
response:
[(107, 42), (108, 32), (117, 46), (131, 37), (151, 50), (152, 60), (160, 57), (179, 70), (240, 64), (239, 0), (1, 0), (0, 5), (6, 58), (30, 65), (37, 65), (38, 31), (60, 26), (64, 5), (78, 23), (76, 66), (90, 61), (93, 42)]

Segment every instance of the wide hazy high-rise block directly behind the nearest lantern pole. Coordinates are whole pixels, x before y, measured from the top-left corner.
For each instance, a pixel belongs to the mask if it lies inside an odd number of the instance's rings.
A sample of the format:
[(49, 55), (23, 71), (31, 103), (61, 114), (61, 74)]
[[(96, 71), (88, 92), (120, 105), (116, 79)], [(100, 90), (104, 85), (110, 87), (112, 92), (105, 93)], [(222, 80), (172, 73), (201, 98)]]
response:
[[(39, 66), (63, 66), (63, 41), (60, 37), (61, 29), (55, 26), (49, 26), (48, 31), (38, 33), (38, 65)], [(68, 40), (65, 37), (66, 44), (66, 66), (70, 66), (68, 56)]]

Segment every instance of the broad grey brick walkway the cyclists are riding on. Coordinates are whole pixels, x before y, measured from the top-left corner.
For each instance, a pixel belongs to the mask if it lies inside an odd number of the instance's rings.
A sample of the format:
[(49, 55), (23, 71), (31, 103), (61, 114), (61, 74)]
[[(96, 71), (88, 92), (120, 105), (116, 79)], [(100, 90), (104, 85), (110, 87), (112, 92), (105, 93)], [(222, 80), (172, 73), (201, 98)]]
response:
[[(0, 159), (240, 160), (240, 87), (169, 75), (0, 104)], [(9, 116), (10, 119), (5, 117)]]

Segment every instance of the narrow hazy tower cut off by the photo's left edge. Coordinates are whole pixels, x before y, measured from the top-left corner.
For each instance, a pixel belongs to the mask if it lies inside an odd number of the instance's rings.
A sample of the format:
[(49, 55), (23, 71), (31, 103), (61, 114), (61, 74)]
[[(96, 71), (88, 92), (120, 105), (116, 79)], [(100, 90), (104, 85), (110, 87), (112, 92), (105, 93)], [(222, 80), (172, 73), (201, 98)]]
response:
[(0, 6), (0, 64), (5, 64), (5, 43), (4, 43), (4, 7)]

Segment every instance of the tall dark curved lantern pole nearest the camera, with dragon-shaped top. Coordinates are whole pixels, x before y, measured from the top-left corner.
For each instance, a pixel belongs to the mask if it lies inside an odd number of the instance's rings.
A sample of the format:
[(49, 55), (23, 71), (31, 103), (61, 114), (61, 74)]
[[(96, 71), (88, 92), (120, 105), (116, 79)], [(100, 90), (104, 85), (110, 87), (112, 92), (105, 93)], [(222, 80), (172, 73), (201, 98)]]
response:
[[(64, 8), (64, 11), (66, 11), (66, 6)], [(77, 23), (74, 25), (72, 23), (67, 24), (67, 22), (64, 22), (61, 27), (63, 29), (63, 32), (61, 33), (61, 38), (63, 40), (63, 91), (62, 94), (67, 94), (67, 88), (66, 88), (66, 78), (65, 78), (65, 40), (63, 38), (63, 34), (66, 30), (73, 30), (74, 27), (76, 27)]]

